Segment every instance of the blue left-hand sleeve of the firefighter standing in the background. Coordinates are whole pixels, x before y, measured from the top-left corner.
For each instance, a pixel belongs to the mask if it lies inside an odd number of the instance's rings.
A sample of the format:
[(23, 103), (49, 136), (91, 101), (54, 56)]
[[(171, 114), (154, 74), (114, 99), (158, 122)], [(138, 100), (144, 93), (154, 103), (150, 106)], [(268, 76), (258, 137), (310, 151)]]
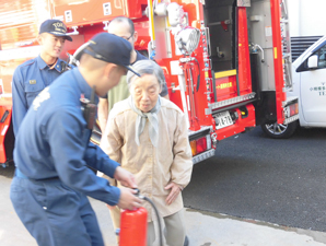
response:
[(12, 126), (16, 136), (19, 127), (27, 113), (27, 101), (25, 97), (24, 80), (20, 67), (14, 71), (12, 78)]

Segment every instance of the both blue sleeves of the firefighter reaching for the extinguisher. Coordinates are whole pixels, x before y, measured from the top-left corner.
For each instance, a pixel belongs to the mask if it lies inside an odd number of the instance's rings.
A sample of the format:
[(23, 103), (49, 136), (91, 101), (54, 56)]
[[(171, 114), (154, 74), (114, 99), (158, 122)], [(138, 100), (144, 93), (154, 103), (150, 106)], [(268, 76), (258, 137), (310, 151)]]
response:
[(60, 109), (47, 122), (46, 134), (55, 168), (70, 188), (115, 206), (119, 201), (119, 188), (97, 177), (86, 165), (113, 176), (118, 163), (109, 160), (98, 147), (88, 143), (89, 138), (83, 133), (86, 129), (78, 110)]

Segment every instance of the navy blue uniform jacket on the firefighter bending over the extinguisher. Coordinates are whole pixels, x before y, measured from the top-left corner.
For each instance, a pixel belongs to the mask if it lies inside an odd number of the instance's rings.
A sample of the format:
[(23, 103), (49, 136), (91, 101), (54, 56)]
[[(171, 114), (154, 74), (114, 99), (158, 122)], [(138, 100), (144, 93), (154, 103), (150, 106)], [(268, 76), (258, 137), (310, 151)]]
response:
[(113, 177), (119, 165), (90, 143), (91, 130), (86, 128), (80, 98), (82, 94), (90, 98), (91, 91), (78, 68), (42, 91), (20, 127), (14, 162), (27, 178), (58, 177), (70, 188), (114, 206), (120, 190), (86, 166)]

